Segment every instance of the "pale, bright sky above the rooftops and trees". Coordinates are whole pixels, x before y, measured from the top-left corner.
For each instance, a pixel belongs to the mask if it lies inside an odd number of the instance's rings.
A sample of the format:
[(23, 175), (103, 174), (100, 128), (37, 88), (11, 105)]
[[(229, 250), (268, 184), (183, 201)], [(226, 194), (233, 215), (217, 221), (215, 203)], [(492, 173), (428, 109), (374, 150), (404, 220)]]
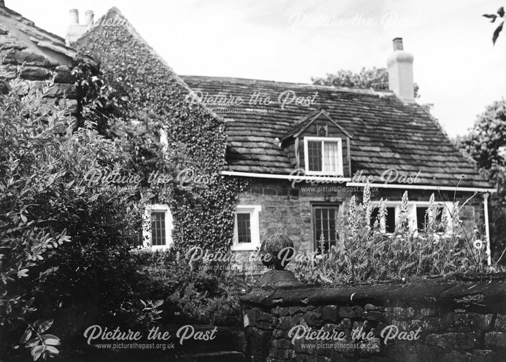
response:
[[(414, 55), (419, 103), (450, 137), (506, 96), (506, 31), (482, 17), (504, 0), (5, 0), (65, 36), (69, 9), (98, 19), (115, 6), (181, 75), (310, 83), (340, 69), (386, 67), (392, 39)], [(506, 28), (506, 26), (505, 26)]]

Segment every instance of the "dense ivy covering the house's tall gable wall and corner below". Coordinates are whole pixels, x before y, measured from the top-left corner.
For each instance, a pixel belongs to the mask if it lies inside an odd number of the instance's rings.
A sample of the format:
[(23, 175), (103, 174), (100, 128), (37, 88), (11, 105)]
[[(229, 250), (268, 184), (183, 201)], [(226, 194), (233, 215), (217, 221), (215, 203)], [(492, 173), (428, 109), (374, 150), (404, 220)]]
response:
[[(122, 17), (116, 13), (107, 16)], [(107, 84), (113, 88), (112, 93), (119, 95), (126, 90), (130, 119), (139, 120), (140, 125), (148, 119), (153, 125), (151, 135), (157, 134), (159, 129), (166, 132), (170, 152), (167, 162), (157, 163), (157, 158), (151, 157), (152, 153), (144, 154), (142, 143), (134, 143), (140, 150), (139, 157), (142, 157), (137, 164), (142, 165), (143, 172), (160, 170), (172, 175), (191, 169), (195, 175), (210, 180), (191, 182), (186, 189), (176, 187), (173, 193), (162, 191), (156, 194), (158, 203), (166, 203), (171, 208), (174, 247), (182, 252), (197, 245), (227, 250), (233, 239), (233, 210), (237, 195), (247, 182), (220, 177), (226, 167), (225, 123), (202, 104), (192, 104), (188, 98), (188, 86), (128, 21), (124, 21), (124, 27), (118, 30), (111, 33), (101, 26), (95, 27), (76, 46), (82, 53), (92, 54), (100, 60)], [(116, 83), (124, 84), (123, 88), (114, 87)], [(104, 98), (111, 99), (109, 96)], [(182, 154), (178, 151), (180, 149)]]

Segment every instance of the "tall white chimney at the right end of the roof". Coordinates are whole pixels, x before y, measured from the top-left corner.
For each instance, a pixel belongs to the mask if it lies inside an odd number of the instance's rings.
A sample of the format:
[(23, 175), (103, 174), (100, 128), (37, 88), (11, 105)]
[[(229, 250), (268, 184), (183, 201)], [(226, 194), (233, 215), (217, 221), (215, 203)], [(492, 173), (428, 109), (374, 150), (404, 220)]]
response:
[(413, 55), (404, 51), (402, 38), (394, 39), (394, 52), (387, 59), (388, 88), (405, 101), (414, 101)]

